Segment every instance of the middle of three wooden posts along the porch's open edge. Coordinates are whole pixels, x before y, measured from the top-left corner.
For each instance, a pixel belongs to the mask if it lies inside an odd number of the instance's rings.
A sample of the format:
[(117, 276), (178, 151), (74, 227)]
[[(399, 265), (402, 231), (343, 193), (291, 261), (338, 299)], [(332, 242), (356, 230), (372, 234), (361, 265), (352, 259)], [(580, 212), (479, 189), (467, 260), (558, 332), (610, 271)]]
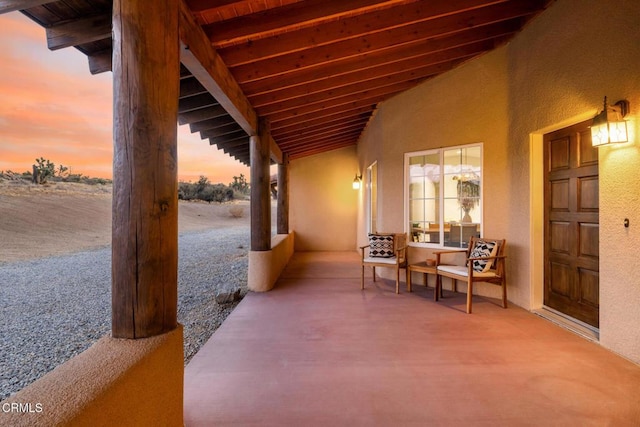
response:
[(251, 250), (271, 249), (271, 191), (269, 124), (261, 122), (259, 135), (249, 139), (251, 156)]

